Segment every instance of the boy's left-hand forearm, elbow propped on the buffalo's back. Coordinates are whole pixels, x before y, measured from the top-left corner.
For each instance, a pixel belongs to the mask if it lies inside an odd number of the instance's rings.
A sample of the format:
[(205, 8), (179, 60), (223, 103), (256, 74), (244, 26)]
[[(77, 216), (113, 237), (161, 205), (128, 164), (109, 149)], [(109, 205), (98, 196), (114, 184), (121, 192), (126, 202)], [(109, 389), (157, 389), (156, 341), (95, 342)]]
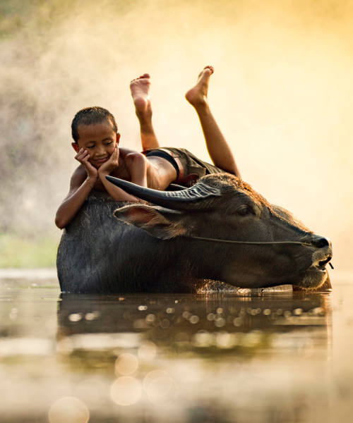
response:
[(65, 228), (71, 222), (85, 199), (95, 185), (97, 178), (87, 175), (83, 166), (78, 166), (70, 180), (70, 189), (64, 201), (60, 204), (55, 216), (55, 224), (59, 229)]

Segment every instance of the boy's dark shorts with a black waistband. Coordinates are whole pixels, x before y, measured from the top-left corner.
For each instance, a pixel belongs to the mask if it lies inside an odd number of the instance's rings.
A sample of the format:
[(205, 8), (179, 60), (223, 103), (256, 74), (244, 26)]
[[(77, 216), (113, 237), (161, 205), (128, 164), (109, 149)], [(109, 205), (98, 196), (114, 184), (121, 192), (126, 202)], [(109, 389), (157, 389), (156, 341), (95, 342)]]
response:
[(225, 170), (198, 159), (184, 148), (153, 148), (145, 150), (143, 154), (146, 157), (162, 157), (169, 161), (177, 171), (175, 182), (185, 186), (193, 185), (201, 176), (210, 175), (210, 173), (225, 173)]

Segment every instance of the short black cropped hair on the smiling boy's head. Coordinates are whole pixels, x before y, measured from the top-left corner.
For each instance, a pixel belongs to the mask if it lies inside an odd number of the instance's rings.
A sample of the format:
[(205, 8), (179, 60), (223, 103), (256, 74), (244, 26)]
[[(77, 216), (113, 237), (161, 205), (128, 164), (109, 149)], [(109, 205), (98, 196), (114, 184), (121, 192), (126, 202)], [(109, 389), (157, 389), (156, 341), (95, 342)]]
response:
[(80, 137), (80, 135), (78, 135), (78, 125), (95, 125), (95, 123), (102, 123), (104, 121), (112, 123), (114, 132), (118, 132), (118, 125), (116, 125), (115, 118), (109, 111), (107, 111), (107, 109), (103, 109), (103, 107), (99, 106), (93, 106), (85, 107), (85, 109), (78, 111), (71, 123), (71, 134), (73, 140), (78, 142)]

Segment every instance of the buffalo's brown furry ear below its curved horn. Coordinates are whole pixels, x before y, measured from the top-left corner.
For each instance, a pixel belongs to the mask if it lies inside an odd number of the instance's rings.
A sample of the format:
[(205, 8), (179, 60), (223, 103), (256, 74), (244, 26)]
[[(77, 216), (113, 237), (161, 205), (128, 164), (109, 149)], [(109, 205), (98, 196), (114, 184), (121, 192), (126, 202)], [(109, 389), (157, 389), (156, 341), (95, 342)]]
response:
[(114, 212), (116, 219), (137, 226), (162, 240), (186, 233), (186, 228), (180, 219), (181, 215), (182, 212), (144, 204), (131, 204), (116, 209)]

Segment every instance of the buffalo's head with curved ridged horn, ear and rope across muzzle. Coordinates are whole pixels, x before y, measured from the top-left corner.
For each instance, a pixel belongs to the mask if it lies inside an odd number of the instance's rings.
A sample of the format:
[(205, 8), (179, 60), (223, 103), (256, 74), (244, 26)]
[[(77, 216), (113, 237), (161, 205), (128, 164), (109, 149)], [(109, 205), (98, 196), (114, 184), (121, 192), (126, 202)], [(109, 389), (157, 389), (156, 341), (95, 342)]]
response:
[[(250, 185), (229, 174), (209, 175), (193, 187), (161, 192), (124, 180), (112, 183), (142, 200), (116, 209), (116, 218), (161, 240), (182, 240), (196, 276), (259, 288), (292, 283), (318, 288), (332, 258), (330, 240), (309, 231), (291, 213), (270, 204)], [(200, 240), (216, 238), (244, 243)], [(258, 244), (247, 244), (247, 242)]]

